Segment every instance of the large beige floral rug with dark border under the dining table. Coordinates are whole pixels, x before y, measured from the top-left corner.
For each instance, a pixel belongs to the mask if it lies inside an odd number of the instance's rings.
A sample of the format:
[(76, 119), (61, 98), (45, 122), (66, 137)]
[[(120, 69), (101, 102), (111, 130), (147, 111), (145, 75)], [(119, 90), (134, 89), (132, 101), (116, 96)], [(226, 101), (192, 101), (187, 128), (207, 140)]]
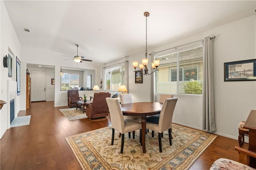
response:
[(135, 139), (125, 134), (124, 152), (120, 154), (121, 138), (115, 131), (114, 145), (111, 145), (112, 127), (104, 127), (66, 137), (82, 169), (84, 170), (187, 170), (214, 141), (216, 135), (172, 125), (172, 146), (168, 131), (162, 138), (162, 153), (159, 152), (158, 134), (152, 138), (151, 131), (146, 134), (146, 153), (142, 152), (139, 131)]

